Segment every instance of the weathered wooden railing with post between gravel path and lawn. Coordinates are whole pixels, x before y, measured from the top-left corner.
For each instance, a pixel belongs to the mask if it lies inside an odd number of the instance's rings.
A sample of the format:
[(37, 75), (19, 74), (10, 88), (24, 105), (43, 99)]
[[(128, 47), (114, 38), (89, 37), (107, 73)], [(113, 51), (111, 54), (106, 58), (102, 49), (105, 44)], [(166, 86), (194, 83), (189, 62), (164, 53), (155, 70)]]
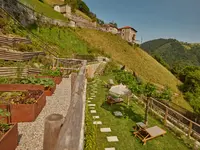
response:
[[(63, 62), (64, 59), (59, 60)], [(53, 125), (52, 120), (48, 120), (48, 117), (46, 118), (44, 150), (83, 150), (84, 147), (87, 61), (66, 59), (64, 62), (66, 63), (68, 61), (73, 62), (73, 65), (75, 64), (74, 61), (76, 61), (80, 66), (78, 74), (73, 73), (71, 75), (71, 103), (62, 125), (60, 124), (60, 121), (54, 122)], [(55, 114), (52, 114), (52, 116), (54, 115)], [(61, 127), (58, 128), (59, 126)]]

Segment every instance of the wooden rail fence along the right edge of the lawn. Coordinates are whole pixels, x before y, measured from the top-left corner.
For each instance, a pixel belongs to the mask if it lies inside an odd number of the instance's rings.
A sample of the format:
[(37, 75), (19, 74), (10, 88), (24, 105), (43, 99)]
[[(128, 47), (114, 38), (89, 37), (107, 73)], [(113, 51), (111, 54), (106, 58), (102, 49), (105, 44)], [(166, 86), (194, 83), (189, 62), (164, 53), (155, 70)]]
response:
[[(143, 102), (146, 100), (143, 99)], [(163, 123), (168, 125), (173, 124), (189, 137), (200, 141), (200, 125), (187, 117), (183, 116), (173, 108), (159, 102), (158, 100), (150, 99), (150, 110), (163, 118)]]

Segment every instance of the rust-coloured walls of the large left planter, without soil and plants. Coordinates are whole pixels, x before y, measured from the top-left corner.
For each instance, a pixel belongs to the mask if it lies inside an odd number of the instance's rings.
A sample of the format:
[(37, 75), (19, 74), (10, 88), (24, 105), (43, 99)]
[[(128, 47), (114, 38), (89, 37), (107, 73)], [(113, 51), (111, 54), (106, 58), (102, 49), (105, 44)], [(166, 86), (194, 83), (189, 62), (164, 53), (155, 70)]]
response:
[[(22, 84), (23, 85), (23, 84)], [(26, 85), (22, 86), (21, 84), (18, 85), (8, 85), (8, 84), (1, 84), (0, 91), (27, 91), (27, 90), (40, 90), (43, 89), (43, 86), (36, 85)], [(4, 87), (4, 88), (3, 88)], [(46, 95), (43, 92), (37, 100), (37, 103), (34, 104), (0, 104), (1, 109), (6, 109), (10, 112), (10, 116), (7, 117), (7, 120), (4, 120), (8, 123), (12, 122), (31, 122), (34, 121), (37, 116), (42, 111), (43, 107), (46, 104)]]

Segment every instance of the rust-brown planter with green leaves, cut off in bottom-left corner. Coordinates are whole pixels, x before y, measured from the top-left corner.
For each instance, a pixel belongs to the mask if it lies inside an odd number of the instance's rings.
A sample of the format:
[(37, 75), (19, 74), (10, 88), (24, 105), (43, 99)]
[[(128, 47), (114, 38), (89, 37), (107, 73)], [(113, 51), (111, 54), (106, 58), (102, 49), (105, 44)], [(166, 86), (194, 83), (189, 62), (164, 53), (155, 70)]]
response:
[[(9, 116), (9, 113), (0, 109), (1, 118)], [(0, 149), (14, 150), (18, 143), (17, 124), (7, 124), (0, 121)]]

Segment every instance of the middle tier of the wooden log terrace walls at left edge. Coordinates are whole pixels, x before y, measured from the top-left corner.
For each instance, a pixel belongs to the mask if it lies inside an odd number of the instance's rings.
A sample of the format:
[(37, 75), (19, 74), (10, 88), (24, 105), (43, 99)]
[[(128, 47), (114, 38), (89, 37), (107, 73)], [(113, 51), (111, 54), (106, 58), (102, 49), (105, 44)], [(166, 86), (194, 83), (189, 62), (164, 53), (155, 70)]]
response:
[(14, 52), (8, 51), (6, 48), (0, 47), (0, 59), (12, 61), (25, 61), (30, 60), (34, 56), (45, 55), (44, 52)]

